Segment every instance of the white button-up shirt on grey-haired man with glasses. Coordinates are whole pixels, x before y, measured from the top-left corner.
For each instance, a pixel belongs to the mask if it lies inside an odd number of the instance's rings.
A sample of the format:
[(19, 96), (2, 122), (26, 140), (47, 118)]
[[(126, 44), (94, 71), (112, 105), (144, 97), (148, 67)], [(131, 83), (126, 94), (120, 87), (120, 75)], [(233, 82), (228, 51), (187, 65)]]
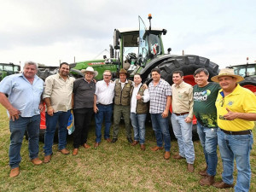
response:
[(113, 103), (114, 82), (109, 82), (107, 86), (104, 80), (98, 81), (96, 83), (95, 95), (97, 96), (97, 104), (109, 105)]

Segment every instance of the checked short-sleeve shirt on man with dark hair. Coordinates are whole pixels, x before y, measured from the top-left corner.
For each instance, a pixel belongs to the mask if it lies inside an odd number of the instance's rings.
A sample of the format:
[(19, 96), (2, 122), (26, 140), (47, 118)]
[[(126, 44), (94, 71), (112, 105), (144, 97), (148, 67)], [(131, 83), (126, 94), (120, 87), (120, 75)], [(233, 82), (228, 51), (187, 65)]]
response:
[(172, 96), (171, 85), (164, 79), (154, 86), (153, 82), (148, 85), (150, 106), (149, 113), (163, 113), (166, 109), (167, 96)]

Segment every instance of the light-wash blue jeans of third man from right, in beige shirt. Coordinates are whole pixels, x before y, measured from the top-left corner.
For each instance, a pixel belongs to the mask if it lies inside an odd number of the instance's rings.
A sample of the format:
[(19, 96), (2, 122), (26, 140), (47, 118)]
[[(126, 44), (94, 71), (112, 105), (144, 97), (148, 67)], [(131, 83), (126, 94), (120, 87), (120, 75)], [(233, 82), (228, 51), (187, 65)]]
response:
[(186, 158), (187, 163), (194, 164), (195, 149), (192, 141), (192, 122), (186, 123), (184, 120), (188, 115), (177, 116), (172, 113), (172, 130), (177, 138), (179, 154)]

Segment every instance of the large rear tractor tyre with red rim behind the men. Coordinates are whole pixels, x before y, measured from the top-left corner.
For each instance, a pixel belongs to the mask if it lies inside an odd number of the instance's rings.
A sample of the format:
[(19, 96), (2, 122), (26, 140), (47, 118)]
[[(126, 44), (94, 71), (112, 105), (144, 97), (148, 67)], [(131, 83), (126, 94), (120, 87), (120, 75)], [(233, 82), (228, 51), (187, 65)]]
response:
[[(207, 58), (197, 56), (197, 55), (181, 55), (172, 57), (166, 61), (160, 63), (157, 66), (160, 68), (161, 78), (165, 79), (169, 84), (173, 84), (172, 82), (172, 73), (174, 71), (183, 71), (184, 81), (188, 84), (195, 85), (195, 80), (193, 74), (195, 70), (198, 68), (206, 68), (209, 72), (209, 80), (218, 75), (218, 65), (213, 63)], [(255, 81), (256, 82), (256, 81)], [(169, 115), (171, 118), (171, 115)], [(193, 137), (194, 139), (198, 139), (197, 131), (196, 131), (196, 120), (193, 120)], [(170, 132), (172, 132), (172, 123), (171, 119), (169, 119)]]

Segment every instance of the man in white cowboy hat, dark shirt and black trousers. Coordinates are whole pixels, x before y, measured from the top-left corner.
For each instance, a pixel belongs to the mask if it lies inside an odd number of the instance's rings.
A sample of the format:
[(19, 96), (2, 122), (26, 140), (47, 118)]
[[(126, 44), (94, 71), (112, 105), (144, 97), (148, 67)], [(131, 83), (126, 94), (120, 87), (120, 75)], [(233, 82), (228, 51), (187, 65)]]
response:
[(96, 83), (93, 78), (98, 75), (93, 67), (81, 70), (84, 78), (73, 82), (73, 115), (75, 131), (73, 132), (73, 155), (79, 153), (79, 146), (90, 148), (87, 143), (90, 119), (94, 108)]

